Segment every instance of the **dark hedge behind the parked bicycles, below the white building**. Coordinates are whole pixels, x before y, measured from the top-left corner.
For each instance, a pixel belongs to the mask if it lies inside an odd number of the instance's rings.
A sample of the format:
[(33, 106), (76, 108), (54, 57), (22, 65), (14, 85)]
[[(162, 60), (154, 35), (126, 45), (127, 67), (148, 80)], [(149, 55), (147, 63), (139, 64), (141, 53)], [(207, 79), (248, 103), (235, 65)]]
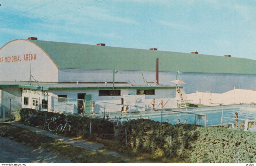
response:
[[(71, 127), (75, 130), (73, 130), (73, 134), (76, 135), (77, 133), (88, 133), (90, 132), (90, 123), (92, 123), (92, 133), (98, 133), (98, 134), (114, 134), (114, 125), (113, 123), (97, 119), (97, 118), (90, 118), (90, 117), (83, 117), (83, 116), (74, 116), (74, 115), (64, 115), (59, 113), (53, 113), (53, 112), (47, 112), (47, 111), (38, 111), (34, 109), (29, 108), (23, 108), (23, 109), (16, 109), (14, 111), (14, 118), (18, 122), (25, 121), (29, 115), (37, 115), (36, 117), (36, 125), (37, 126), (43, 126), (45, 122), (45, 114), (47, 115), (47, 119), (51, 119), (51, 117), (62, 117), (68, 118), (68, 121), (71, 121)], [(80, 130), (80, 131), (78, 131)]]

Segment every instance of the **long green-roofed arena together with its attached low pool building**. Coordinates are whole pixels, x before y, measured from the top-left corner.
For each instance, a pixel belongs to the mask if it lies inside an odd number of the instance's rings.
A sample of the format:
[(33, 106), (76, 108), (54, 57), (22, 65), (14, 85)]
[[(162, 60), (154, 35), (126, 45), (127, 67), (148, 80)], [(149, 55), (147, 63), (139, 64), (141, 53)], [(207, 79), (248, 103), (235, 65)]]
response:
[[(172, 107), (176, 97), (172, 80), (178, 78), (187, 83), (181, 87), (184, 95), (196, 91), (222, 93), (234, 87), (256, 89), (255, 69), (255, 60), (230, 56), (30, 37), (10, 41), (0, 49), (0, 104), (2, 110), (3, 106), (6, 110), (49, 110), (54, 106), (56, 110), (58, 103), (67, 101), (64, 99), (81, 99), (143, 107), (155, 98), (156, 103), (162, 99), (164, 107)], [(78, 113), (79, 104), (70, 104), (71, 112)], [(90, 103), (83, 104), (89, 113)], [(101, 104), (96, 106), (96, 113), (104, 109)]]

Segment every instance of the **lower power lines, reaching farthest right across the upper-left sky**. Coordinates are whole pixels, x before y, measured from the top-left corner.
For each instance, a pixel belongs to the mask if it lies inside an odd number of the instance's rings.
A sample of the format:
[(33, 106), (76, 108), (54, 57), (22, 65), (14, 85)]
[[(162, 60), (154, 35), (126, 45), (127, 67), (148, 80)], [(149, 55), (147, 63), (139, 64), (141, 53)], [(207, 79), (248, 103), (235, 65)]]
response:
[(7, 28), (7, 27), (12, 27), (12, 26), (18, 26), (18, 25), (22, 25), (22, 24), (27, 24), (27, 23), (30, 23), (30, 22), (35, 22), (37, 20), (42, 20), (42, 19), (50, 18), (50, 17), (56, 16), (56, 15), (61, 15), (61, 14), (72, 12), (72, 11), (75, 11), (75, 10), (78, 10), (78, 9), (81, 9), (81, 8), (84, 8), (84, 7), (87, 7), (87, 6), (91, 6), (93, 4), (98, 4), (98, 3), (103, 2), (103, 1), (106, 1), (106, 0), (101, 0), (101, 1), (95, 0), (95, 1), (92, 1), (92, 2), (89, 2), (89, 3), (86, 3), (86, 4), (82, 4), (82, 5), (76, 6), (76, 7), (71, 8), (71, 9), (67, 9), (67, 10), (64, 10), (64, 11), (61, 11), (61, 12), (57, 12), (57, 13), (54, 13), (54, 14), (51, 14), (51, 15), (48, 15), (48, 16), (41, 17), (41, 18), (38, 18), (38, 19), (30, 20), (30, 21), (27, 21), (27, 22), (22, 22), (22, 23), (19, 23), (19, 24), (7, 25), (7, 26), (3, 26), (3, 27), (0, 27), (0, 28)]

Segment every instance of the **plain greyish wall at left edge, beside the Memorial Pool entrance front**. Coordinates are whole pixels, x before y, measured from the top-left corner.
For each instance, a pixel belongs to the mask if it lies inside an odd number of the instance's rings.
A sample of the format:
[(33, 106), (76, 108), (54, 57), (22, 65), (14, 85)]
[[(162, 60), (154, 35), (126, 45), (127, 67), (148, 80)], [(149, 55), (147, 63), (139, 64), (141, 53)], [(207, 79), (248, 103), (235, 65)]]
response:
[(0, 104), (1, 104), (2, 115), (3, 115), (4, 106), (5, 106), (5, 116), (9, 115), (10, 99), (11, 99), (11, 112), (17, 108), (22, 108), (22, 104), (21, 104), (22, 89), (21, 88), (2, 88), (2, 90), (0, 91), (1, 91)]

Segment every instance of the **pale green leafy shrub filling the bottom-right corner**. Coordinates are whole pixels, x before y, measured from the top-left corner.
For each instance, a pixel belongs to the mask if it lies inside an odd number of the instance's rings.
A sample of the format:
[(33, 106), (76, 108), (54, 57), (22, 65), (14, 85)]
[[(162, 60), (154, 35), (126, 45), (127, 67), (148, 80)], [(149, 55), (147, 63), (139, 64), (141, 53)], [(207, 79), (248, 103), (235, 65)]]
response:
[(255, 133), (224, 128), (198, 128), (191, 162), (256, 162)]

